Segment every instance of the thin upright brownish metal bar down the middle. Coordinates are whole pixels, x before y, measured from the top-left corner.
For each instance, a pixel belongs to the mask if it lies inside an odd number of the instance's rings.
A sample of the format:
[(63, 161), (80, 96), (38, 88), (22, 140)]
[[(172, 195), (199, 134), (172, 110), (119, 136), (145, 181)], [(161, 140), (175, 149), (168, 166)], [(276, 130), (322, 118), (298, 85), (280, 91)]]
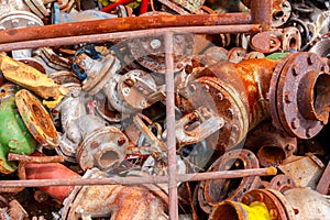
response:
[(168, 212), (170, 220), (178, 219), (178, 196), (176, 182), (176, 140), (174, 109), (174, 61), (173, 33), (166, 32), (165, 43), (165, 82), (166, 82), (166, 124), (167, 124), (167, 163), (168, 163)]

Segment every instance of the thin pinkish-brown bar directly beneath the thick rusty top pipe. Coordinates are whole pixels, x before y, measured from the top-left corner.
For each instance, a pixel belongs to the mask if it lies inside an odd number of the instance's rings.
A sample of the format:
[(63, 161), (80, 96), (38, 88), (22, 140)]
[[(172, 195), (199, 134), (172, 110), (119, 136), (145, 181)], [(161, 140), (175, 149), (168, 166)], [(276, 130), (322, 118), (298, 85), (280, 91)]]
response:
[(36, 48), (43, 46), (63, 46), (80, 43), (103, 43), (113, 40), (128, 37), (142, 37), (146, 35), (161, 35), (165, 32), (194, 33), (194, 34), (221, 34), (221, 33), (256, 33), (260, 31), (258, 24), (241, 24), (241, 25), (213, 25), (213, 26), (183, 26), (151, 29), (142, 31), (117, 32), (107, 34), (91, 34), (81, 36), (66, 36), (46, 40), (34, 40), (25, 42), (3, 43), (0, 44), (0, 52), (10, 52), (23, 48)]

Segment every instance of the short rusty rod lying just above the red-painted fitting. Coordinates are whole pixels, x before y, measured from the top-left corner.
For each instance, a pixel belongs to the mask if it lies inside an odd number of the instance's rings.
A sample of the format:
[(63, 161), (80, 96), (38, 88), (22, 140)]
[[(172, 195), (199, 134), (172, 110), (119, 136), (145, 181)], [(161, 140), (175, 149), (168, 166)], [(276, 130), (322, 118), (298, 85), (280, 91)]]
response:
[(63, 156), (29, 156), (22, 154), (8, 154), (8, 161), (16, 161), (16, 162), (24, 162), (24, 163), (61, 163), (64, 162)]

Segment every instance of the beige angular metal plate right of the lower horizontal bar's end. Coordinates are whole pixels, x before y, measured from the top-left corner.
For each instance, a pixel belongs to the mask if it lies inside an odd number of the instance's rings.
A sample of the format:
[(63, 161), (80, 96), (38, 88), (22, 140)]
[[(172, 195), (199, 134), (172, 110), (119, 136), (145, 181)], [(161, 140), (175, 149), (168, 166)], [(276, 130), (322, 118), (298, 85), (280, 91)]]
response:
[(292, 177), (298, 187), (315, 189), (324, 165), (315, 155), (290, 156), (278, 168)]

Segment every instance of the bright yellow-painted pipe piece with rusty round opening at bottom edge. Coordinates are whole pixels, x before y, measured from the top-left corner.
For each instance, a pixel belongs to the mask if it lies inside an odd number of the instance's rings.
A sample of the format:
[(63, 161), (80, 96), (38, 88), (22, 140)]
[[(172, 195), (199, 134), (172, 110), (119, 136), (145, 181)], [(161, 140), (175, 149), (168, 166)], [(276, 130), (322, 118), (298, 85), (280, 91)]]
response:
[(272, 220), (272, 213), (266, 205), (253, 201), (250, 206), (237, 201), (221, 201), (216, 205), (209, 216), (209, 220)]

